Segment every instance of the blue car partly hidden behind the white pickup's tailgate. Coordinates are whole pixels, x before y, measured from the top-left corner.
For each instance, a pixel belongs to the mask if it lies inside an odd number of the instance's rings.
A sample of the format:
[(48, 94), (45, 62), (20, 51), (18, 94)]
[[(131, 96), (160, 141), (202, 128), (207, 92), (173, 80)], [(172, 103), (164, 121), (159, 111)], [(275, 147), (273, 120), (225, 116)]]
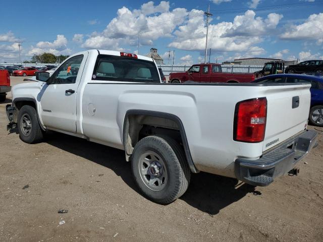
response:
[(254, 83), (310, 83), (309, 123), (323, 127), (323, 77), (316, 75), (278, 74), (259, 78)]

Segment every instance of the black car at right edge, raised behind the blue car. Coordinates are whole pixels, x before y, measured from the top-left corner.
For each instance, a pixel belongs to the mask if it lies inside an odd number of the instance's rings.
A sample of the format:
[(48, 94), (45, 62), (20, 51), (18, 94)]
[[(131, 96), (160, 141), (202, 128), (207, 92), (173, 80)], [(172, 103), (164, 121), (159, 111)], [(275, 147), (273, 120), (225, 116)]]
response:
[(323, 61), (315, 60), (315, 61), (301, 62), (297, 65), (288, 66), (285, 69), (285, 73), (289, 73), (289, 74), (304, 73), (304, 72), (323, 73)]

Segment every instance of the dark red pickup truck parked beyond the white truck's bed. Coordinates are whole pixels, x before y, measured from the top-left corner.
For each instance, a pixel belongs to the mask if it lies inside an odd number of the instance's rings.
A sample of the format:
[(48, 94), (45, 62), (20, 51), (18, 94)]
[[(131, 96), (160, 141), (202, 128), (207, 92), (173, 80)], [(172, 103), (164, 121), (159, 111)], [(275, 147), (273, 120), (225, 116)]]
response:
[(194, 82), (252, 82), (255, 80), (253, 73), (223, 73), (220, 64), (207, 63), (191, 66), (187, 72), (171, 73), (171, 83)]

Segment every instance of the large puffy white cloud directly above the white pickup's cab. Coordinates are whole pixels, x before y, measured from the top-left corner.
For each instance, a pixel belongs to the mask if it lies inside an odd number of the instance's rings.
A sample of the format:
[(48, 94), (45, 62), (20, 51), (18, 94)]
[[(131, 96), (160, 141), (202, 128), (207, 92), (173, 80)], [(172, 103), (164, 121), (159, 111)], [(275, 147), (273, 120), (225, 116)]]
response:
[[(160, 37), (172, 37), (175, 28), (184, 23), (188, 12), (183, 8), (172, 11), (169, 9), (169, 2), (165, 1), (156, 6), (153, 2), (148, 2), (133, 11), (122, 7), (117, 11), (117, 17), (101, 33), (92, 33), (85, 40), (83, 47), (120, 48), (124, 44), (135, 46), (138, 35), (141, 45), (152, 45), (153, 40)], [(202, 11), (201, 15), (203, 15)], [(107, 43), (102, 40), (106, 40)], [(117, 41), (118, 44), (114, 43)]]

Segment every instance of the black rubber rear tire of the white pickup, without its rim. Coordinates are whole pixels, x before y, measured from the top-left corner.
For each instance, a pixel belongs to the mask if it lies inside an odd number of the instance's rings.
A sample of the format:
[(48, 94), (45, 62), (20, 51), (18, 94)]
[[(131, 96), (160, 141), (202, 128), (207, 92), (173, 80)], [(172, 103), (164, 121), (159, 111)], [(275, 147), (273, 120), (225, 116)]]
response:
[[(149, 189), (139, 171), (140, 157), (149, 151), (158, 154), (167, 169), (167, 184), (160, 191)], [(141, 193), (159, 204), (169, 204), (181, 197), (186, 192), (191, 178), (183, 148), (167, 136), (148, 136), (141, 139), (134, 148), (131, 168), (135, 183)]]

